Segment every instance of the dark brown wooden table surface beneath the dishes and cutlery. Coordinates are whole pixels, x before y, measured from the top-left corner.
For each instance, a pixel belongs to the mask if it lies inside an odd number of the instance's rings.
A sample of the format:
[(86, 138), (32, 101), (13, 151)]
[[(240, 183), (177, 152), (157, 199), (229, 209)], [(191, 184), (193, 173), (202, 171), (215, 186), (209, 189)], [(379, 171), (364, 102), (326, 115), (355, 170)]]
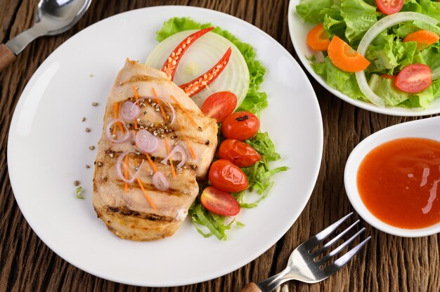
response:
[[(38, 0), (0, 0), (0, 39), (8, 41), (30, 27)], [(263, 0), (108, 0), (93, 1), (73, 29), (28, 46), (0, 73), (0, 291), (240, 291), (248, 281), (261, 281), (283, 270), (298, 244), (342, 215), (354, 211), (344, 191), (344, 166), (351, 150), (371, 133), (413, 120), (361, 110), (325, 91), (311, 79), (323, 116), (321, 171), (309, 204), (276, 245), (244, 267), (200, 284), (174, 288), (141, 288), (94, 277), (51, 251), (32, 231), (15, 202), (8, 178), (8, 128), (23, 88), (41, 62), (64, 41), (111, 15), (158, 5), (189, 5), (235, 15), (267, 32), (295, 55), (287, 29), (289, 1)], [(299, 60), (298, 60), (299, 61)], [(357, 215), (354, 215), (357, 218)], [(319, 284), (290, 281), (290, 291), (440, 291), (440, 234), (404, 239), (366, 226), (372, 240), (363, 252)]]

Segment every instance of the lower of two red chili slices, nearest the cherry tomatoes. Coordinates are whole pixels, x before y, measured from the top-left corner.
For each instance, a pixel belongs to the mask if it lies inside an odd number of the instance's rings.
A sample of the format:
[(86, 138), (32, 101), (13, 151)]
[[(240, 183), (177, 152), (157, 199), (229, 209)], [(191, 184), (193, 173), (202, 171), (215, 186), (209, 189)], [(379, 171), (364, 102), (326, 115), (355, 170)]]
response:
[(214, 65), (211, 69), (209, 69), (205, 74), (200, 75), (193, 81), (190, 81), (186, 84), (182, 84), (179, 86), (180, 88), (188, 94), (189, 97), (195, 95), (203, 88), (207, 87), (212, 83), (217, 77), (219, 77), (220, 73), (225, 69), (226, 65), (228, 65), (229, 58), (231, 57), (232, 50), (228, 48), (226, 53), (221, 57), (219, 62)]

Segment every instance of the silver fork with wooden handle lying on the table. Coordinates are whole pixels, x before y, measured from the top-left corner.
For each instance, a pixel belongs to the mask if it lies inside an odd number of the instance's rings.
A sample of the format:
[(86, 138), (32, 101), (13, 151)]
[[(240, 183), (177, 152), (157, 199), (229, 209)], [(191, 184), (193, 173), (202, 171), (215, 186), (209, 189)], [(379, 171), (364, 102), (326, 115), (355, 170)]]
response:
[(353, 213), (349, 213), (344, 216), (344, 218), (339, 219), (337, 222), (333, 223), (329, 227), (325, 228), (325, 230), (319, 232), (314, 237), (311, 237), (307, 241), (303, 242), (294, 251), (290, 254), (289, 262), (287, 263), (287, 267), (282, 272), (259, 282), (258, 284), (250, 283), (242, 288), (241, 292), (271, 292), (276, 287), (283, 284), (285, 281), (290, 280), (298, 280), (306, 283), (316, 283), (318, 281), (323, 281), (323, 279), (327, 279), (332, 274), (335, 274), (337, 270), (343, 267), (345, 264), (351, 260), (351, 258), (356, 255), (361, 248), (367, 244), (367, 242), (371, 239), (368, 237), (364, 239), (360, 244), (352, 248), (350, 251), (342, 255), (340, 258), (335, 260), (335, 262), (331, 263), (327, 267), (322, 267), (323, 264), (333, 258), (335, 255), (340, 253), (345, 247), (347, 247), (351, 241), (354, 241), (356, 237), (358, 237), (362, 232), (365, 231), (365, 227), (356, 232), (349, 239), (344, 241), (343, 244), (337, 246), (333, 251), (328, 253), (328, 255), (324, 255), (323, 258), (316, 259), (318, 255), (321, 255), (324, 251), (327, 251), (328, 248), (332, 247), (339, 239), (342, 239), (347, 232), (353, 229), (358, 223), (359, 220), (356, 220), (355, 223), (351, 224), (347, 227), (346, 230), (339, 233), (335, 238), (328, 241), (328, 243), (318, 248), (316, 251), (312, 251), (313, 248), (316, 248), (318, 244), (321, 244), (324, 239), (330, 236), (333, 232), (337, 230), (337, 227), (344, 223), (347, 218), (349, 218)]

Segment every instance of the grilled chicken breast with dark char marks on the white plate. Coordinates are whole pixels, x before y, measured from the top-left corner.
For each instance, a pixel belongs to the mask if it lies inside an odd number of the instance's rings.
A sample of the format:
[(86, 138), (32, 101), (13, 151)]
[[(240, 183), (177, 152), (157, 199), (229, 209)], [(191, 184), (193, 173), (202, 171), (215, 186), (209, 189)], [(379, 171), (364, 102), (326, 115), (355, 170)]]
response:
[[(127, 100), (134, 102), (134, 88), (138, 98), (145, 99), (138, 102), (141, 112), (136, 123), (127, 124), (128, 130), (125, 129), (130, 132), (131, 138), (126, 142), (111, 142), (105, 131), (115, 119), (115, 102), (120, 105)], [(174, 107), (174, 124), (171, 125), (171, 108), (166, 102), (160, 102), (162, 112), (153, 96), (167, 100)], [(166, 115), (165, 119), (163, 114)], [(112, 125), (117, 126), (117, 123)], [(153, 184), (155, 170), (146, 154), (135, 145), (135, 126), (137, 130), (149, 131), (159, 140), (157, 150), (149, 155), (157, 171), (162, 171), (167, 178), (167, 191), (157, 190)], [(172, 177), (170, 162), (167, 161), (167, 165), (160, 162), (168, 155), (165, 139), (171, 150), (181, 145), (188, 152), (185, 164), (179, 169), (176, 169), (176, 164), (181, 162), (181, 155), (174, 154), (172, 157), (175, 177)], [(215, 119), (205, 117), (193, 100), (179, 86), (169, 81), (164, 72), (127, 59), (108, 97), (103, 135), (98, 142), (93, 178), (93, 207), (98, 218), (123, 239), (146, 241), (171, 236), (185, 220), (188, 208), (198, 195), (196, 180), (206, 178), (216, 144)], [(149, 203), (138, 180), (128, 183), (128, 190), (124, 190), (126, 183), (117, 173), (117, 159), (127, 150), (133, 150), (134, 153), (127, 155), (129, 171), (126, 178), (132, 178), (136, 168), (142, 164), (137, 178), (141, 180), (154, 206)]]

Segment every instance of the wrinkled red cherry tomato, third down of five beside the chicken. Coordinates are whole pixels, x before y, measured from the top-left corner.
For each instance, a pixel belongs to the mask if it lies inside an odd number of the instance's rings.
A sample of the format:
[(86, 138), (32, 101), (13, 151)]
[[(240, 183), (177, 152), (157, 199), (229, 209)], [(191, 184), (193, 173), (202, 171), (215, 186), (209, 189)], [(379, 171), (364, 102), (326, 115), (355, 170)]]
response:
[(231, 161), (238, 167), (247, 167), (261, 160), (261, 155), (245, 142), (227, 139), (221, 142), (219, 157)]

